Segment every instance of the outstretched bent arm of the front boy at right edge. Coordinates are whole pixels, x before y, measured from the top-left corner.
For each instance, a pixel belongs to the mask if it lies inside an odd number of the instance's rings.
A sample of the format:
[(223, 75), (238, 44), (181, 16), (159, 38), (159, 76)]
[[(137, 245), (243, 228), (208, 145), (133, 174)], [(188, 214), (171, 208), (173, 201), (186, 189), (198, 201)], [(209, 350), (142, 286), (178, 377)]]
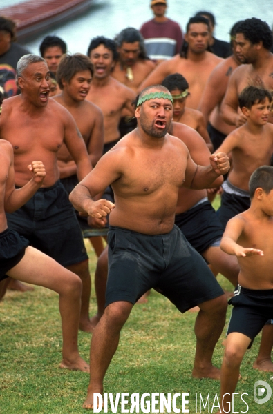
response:
[(247, 257), (253, 255), (263, 256), (263, 251), (256, 248), (245, 248), (236, 243), (238, 238), (243, 232), (245, 226), (245, 220), (239, 215), (229, 220), (225, 233), (223, 234), (220, 242), (220, 248), (228, 255), (234, 255), (236, 257)]

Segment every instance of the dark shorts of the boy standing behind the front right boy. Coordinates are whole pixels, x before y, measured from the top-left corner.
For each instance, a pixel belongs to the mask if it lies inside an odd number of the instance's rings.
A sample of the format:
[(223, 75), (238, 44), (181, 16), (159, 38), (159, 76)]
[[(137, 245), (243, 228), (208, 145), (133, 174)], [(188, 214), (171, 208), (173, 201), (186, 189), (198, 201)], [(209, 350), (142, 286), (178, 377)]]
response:
[(224, 191), (221, 197), (221, 206), (218, 210), (218, 217), (222, 226), (227, 226), (227, 221), (237, 214), (250, 208), (250, 197), (229, 194)]

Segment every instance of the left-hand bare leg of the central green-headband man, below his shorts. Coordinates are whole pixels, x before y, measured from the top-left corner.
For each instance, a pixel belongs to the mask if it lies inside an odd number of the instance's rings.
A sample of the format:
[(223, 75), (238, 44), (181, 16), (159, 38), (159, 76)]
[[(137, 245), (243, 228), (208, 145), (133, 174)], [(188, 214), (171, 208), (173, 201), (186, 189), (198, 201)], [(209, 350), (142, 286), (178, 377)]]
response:
[(90, 349), (90, 382), (83, 408), (93, 409), (93, 394), (103, 392), (104, 375), (117, 350), (120, 331), (132, 308), (130, 302), (109, 304), (95, 328)]

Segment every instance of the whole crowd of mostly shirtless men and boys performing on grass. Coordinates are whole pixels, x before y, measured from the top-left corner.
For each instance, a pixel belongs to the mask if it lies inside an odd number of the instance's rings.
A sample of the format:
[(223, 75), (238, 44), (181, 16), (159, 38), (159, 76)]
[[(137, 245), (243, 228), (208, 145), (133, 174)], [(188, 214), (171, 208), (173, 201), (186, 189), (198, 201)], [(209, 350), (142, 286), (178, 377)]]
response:
[[(32, 55), (0, 17), (0, 299), (27, 290), (21, 282), (59, 293), (60, 366), (90, 369), (86, 409), (151, 288), (181, 313), (196, 308), (192, 375), (220, 380), (228, 413), (261, 330), (253, 366), (273, 371), (272, 30), (238, 21), (227, 43), (211, 12), (183, 34), (165, 0), (151, 8), (140, 30), (97, 36), (86, 55), (51, 35)], [(98, 257), (92, 317), (84, 237)], [(211, 362), (227, 311), (218, 273), (235, 288), (221, 370)], [(90, 368), (78, 329), (93, 333)]]

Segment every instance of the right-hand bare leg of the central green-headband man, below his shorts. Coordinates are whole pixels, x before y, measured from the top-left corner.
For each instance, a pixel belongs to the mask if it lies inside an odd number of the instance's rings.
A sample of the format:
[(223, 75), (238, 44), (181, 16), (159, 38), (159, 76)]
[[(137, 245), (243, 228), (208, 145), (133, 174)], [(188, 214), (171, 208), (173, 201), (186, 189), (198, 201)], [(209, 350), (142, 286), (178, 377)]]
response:
[(192, 375), (195, 378), (220, 380), (220, 370), (212, 366), (212, 354), (225, 325), (227, 298), (221, 295), (216, 299), (199, 304), (196, 317), (196, 357)]

